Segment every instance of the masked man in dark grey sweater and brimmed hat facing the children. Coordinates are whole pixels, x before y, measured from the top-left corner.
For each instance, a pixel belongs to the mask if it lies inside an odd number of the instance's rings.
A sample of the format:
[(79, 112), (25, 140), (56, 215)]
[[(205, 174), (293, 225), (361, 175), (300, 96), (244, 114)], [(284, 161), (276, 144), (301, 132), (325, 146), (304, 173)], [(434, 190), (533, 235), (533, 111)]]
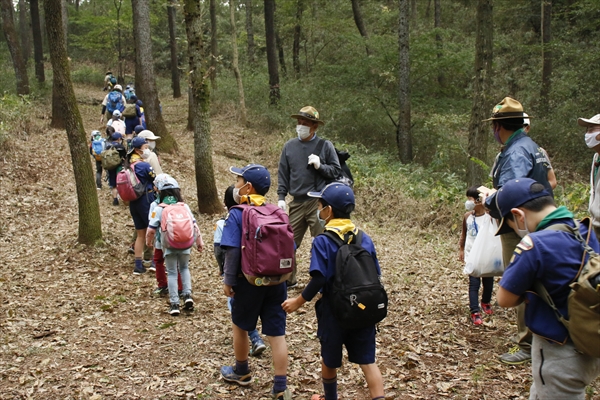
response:
[[(306, 106), (291, 117), (298, 121), (298, 137), (288, 140), (281, 152), (277, 171), (277, 205), (285, 210), (285, 196), (289, 193), (294, 197), (289, 204), (289, 215), (298, 248), (308, 228), (312, 237), (323, 231), (317, 219), (318, 199), (309, 197), (307, 193), (321, 191), (342, 171), (333, 144), (317, 136), (317, 128), (325, 124), (319, 118), (319, 112), (312, 106)], [(294, 285), (296, 269), (288, 281), (289, 287)]]

